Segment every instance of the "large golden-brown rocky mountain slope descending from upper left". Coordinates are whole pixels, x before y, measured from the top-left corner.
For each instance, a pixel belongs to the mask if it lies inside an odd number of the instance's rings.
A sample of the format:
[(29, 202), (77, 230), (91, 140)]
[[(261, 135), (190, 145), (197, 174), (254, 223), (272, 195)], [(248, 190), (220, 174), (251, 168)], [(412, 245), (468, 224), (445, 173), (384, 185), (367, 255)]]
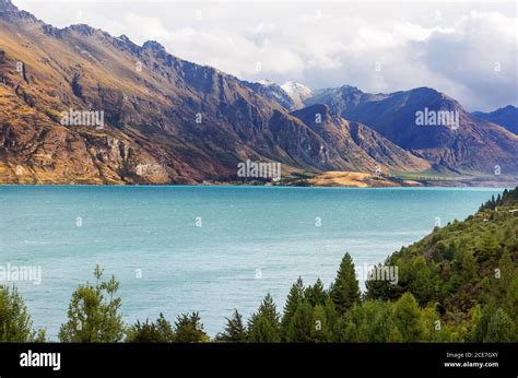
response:
[[(280, 162), (284, 173), (373, 169), (375, 151), (353, 162), (289, 113), (294, 105), (279, 85), (188, 62), (156, 42), (56, 28), (0, 0), (0, 46), (1, 182), (225, 180), (248, 158)], [(103, 125), (63, 122), (90, 113)], [(400, 158), (376, 164), (420, 165)]]

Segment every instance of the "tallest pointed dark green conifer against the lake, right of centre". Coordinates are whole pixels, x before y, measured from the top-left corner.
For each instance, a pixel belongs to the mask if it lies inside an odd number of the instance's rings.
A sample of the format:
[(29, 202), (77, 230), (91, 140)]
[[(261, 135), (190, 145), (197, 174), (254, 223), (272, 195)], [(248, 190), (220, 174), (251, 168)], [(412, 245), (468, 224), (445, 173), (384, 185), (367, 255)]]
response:
[(337, 279), (332, 285), (331, 298), (340, 314), (345, 314), (355, 303), (360, 302), (360, 286), (354, 271), (351, 255), (345, 253), (340, 263)]

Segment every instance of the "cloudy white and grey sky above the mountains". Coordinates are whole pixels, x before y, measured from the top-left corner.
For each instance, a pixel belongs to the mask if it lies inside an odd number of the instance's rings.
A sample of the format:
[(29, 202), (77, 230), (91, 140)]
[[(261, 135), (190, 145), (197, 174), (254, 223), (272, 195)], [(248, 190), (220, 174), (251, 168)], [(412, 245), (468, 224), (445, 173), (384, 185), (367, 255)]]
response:
[(13, 0), (55, 26), (86, 23), (240, 79), (431, 86), (469, 110), (518, 106), (515, 1)]

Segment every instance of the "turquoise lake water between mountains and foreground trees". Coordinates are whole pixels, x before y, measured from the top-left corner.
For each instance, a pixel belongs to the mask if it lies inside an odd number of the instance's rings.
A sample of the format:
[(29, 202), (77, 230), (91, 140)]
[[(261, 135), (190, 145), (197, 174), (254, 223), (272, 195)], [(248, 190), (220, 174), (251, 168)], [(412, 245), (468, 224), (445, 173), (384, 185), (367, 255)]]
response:
[(0, 265), (42, 267), (40, 285), (16, 285), (51, 339), (97, 263), (120, 281), (125, 321), (198, 310), (214, 335), (233, 308), (248, 316), (268, 292), (282, 308), (299, 275), (329, 285), (345, 251), (357, 265), (381, 262), (436, 217), (462, 220), (498, 192), (3, 186)]

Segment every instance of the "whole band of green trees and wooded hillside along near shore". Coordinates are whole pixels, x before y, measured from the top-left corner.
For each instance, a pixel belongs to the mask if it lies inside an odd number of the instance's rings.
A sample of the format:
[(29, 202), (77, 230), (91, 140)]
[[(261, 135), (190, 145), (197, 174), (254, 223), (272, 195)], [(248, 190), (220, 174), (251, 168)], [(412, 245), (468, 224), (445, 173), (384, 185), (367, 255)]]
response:
[[(318, 279), (292, 285), (282, 309), (267, 294), (244, 319), (237, 309), (212, 339), (199, 312), (125, 324), (119, 282), (104, 280), (72, 294), (61, 342), (516, 342), (518, 341), (518, 189), (492, 199), (463, 222), (436, 227), (385, 261), (398, 282), (366, 282), (362, 293), (345, 253), (329, 287)], [(380, 264), (380, 267), (382, 267)], [(0, 341), (44, 342), (16, 288), (0, 286)]]

